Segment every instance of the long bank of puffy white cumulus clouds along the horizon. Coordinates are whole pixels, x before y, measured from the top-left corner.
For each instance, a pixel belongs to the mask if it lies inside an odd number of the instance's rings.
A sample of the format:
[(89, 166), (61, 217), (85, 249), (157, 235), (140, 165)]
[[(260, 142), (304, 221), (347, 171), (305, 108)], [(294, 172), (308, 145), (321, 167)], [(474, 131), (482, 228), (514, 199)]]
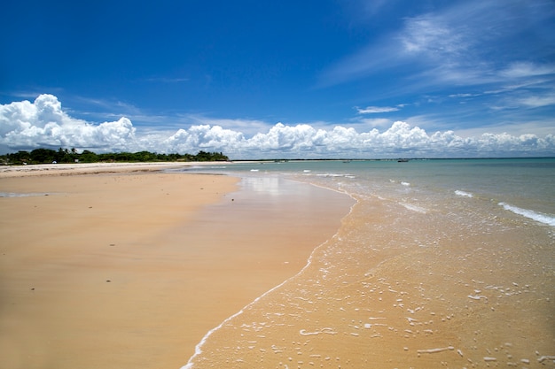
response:
[(34, 103), (0, 105), (0, 145), (10, 150), (77, 150), (196, 153), (223, 151), (231, 158), (473, 158), (555, 155), (555, 136), (483, 134), (460, 137), (453, 131), (429, 134), (396, 121), (387, 129), (357, 132), (353, 127), (316, 128), (277, 123), (247, 136), (234, 129), (198, 124), (175, 133), (141, 135), (127, 118), (92, 124), (70, 117), (56, 96)]

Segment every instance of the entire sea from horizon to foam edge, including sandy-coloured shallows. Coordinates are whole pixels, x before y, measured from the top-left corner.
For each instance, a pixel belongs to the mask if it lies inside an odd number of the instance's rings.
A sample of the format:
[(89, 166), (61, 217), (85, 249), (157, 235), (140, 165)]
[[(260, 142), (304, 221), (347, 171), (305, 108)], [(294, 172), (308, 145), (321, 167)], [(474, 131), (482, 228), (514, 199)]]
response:
[[(309, 264), (185, 367), (555, 367), (555, 159), (203, 166), (356, 200)], [(220, 366), (221, 367), (221, 366)]]

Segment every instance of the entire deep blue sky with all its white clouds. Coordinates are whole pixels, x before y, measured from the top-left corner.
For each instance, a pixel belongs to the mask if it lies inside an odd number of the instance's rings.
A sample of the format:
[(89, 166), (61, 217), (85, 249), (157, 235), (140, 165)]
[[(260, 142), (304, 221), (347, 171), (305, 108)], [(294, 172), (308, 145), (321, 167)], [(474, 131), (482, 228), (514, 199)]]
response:
[(0, 153), (555, 156), (552, 0), (11, 1)]

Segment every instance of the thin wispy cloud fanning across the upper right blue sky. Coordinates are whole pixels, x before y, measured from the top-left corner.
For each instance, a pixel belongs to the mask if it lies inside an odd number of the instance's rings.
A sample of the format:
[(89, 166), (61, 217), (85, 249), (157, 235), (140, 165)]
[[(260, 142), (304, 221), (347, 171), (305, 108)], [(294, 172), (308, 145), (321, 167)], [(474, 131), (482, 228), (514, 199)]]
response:
[[(549, 17), (547, 11), (552, 13), (553, 8), (542, 2), (474, 0), (405, 18), (396, 32), (372, 39), (362, 50), (331, 65), (321, 84), (340, 84), (399, 67), (406, 69), (402, 81), (427, 86), (484, 85), (553, 73), (553, 65), (526, 61), (535, 57), (531, 51), (498, 46), (506, 43), (500, 40), (533, 34), (536, 30), (530, 27)], [(548, 53), (545, 49), (543, 53)]]

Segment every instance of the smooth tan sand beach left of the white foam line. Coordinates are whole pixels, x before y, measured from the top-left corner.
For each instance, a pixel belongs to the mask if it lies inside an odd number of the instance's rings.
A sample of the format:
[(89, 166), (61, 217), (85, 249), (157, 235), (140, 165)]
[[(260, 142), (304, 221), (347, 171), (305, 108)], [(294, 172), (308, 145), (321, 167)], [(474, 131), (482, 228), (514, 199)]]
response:
[(147, 170), (0, 178), (0, 192), (35, 194), (0, 198), (5, 367), (180, 367), (301, 270), (352, 204), (289, 181), (236, 191), (231, 177)]

